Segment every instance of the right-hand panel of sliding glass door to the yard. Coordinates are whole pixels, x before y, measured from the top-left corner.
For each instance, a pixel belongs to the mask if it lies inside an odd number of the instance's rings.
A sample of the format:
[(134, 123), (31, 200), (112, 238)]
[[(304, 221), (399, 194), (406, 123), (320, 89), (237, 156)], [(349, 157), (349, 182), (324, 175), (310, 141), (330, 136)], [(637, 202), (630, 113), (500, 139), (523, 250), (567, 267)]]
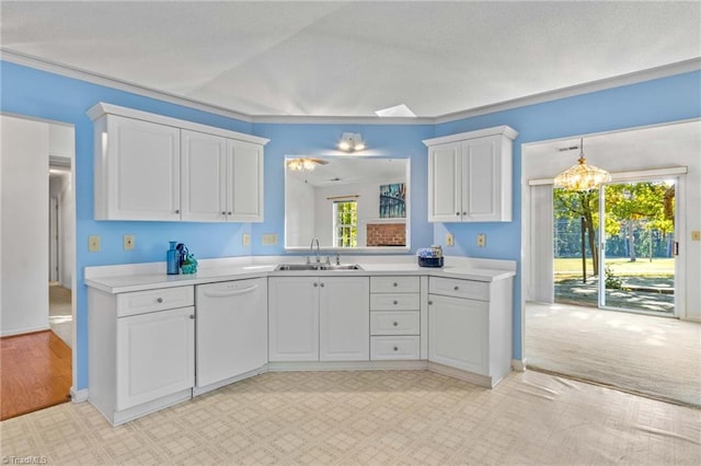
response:
[(599, 189), (599, 307), (675, 314), (675, 179)]

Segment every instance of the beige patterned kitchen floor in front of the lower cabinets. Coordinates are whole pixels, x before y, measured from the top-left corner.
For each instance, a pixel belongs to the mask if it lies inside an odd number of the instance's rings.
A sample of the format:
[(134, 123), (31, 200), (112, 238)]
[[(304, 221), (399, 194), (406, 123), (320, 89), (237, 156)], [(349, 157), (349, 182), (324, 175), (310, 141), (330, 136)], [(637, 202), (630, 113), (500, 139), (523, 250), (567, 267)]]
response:
[[(50, 465), (698, 465), (701, 411), (538, 373), (279, 372), (112, 428), (88, 403), (0, 423)], [(38, 463), (37, 463), (38, 464)]]

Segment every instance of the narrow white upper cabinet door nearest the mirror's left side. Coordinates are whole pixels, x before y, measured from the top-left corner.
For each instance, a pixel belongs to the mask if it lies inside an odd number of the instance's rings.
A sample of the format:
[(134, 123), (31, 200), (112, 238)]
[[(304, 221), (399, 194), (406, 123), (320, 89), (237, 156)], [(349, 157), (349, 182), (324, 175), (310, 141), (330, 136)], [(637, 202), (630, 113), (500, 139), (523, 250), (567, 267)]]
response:
[(227, 220), (263, 221), (263, 147), (228, 141)]

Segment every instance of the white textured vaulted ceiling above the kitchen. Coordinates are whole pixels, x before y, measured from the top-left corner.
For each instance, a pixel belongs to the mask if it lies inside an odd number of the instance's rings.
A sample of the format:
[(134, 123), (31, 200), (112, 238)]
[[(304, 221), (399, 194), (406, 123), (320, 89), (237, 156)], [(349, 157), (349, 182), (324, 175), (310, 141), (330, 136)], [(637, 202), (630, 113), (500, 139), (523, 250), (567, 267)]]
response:
[(701, 57), (701, 3), (1, 2), (4, 50), (251, 116), (438, 117)]

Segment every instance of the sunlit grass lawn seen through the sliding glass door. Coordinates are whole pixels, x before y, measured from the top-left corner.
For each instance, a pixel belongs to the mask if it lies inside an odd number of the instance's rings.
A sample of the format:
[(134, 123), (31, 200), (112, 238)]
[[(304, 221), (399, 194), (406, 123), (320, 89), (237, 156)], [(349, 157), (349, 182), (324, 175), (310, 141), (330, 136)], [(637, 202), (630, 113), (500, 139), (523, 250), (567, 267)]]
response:
[[(634, 263), (631, 263), (627, 257), (613, 257), (607, 258), (606, 265), (611, 268), (616, 276), (674, 276), (675, 273), (675, 259), (673, 257), (653, 258), (651, 261), (648, 258), (637, 258)], [(568, 257), (555, 259), (555, 275), (560, 278), (565, 276), (582, 276), (582, 258)], [(587, 276), (594, 275), (591, 259), (587, 259)]]

